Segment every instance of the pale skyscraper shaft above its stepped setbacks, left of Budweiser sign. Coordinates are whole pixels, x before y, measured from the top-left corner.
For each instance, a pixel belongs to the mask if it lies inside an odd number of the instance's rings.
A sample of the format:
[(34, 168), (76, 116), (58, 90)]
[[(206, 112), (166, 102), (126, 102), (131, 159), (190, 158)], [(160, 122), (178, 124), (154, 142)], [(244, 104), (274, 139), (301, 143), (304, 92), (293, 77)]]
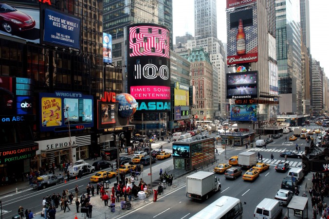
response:
[(217, 38), (216, 0), (194, 0), (194, 36)]

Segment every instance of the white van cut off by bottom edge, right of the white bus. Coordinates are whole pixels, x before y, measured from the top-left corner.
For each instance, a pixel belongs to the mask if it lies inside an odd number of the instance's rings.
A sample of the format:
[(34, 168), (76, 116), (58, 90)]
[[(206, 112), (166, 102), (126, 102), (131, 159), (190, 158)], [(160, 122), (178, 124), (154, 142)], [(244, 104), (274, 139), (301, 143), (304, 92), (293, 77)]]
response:
[(282, 206), (274, 199), (263, 199), (254, 212), (254, 219), (277, 219), (282, 215)]

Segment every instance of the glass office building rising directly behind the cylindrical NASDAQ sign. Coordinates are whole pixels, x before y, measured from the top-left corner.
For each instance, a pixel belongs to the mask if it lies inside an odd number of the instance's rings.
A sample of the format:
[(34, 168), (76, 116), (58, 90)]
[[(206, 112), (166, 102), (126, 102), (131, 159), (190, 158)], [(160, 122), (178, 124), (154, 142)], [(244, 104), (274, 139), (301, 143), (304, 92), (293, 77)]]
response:
[(104, 33), (112, 35), (112, 63), (123, 66), (124, 27), (133, 23), (161, 24), (170, 30), (170, 49), (172, 41), (172, 0), (104, 0)]

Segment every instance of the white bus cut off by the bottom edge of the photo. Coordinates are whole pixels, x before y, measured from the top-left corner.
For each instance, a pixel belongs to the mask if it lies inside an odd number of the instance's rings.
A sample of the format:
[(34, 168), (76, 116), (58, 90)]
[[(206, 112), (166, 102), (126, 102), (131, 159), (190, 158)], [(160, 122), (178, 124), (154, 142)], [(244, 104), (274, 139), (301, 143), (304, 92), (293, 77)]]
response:
[(242, 213), (242, 203), (239, 199), (222, 196), (190, 219), (242, 219)]

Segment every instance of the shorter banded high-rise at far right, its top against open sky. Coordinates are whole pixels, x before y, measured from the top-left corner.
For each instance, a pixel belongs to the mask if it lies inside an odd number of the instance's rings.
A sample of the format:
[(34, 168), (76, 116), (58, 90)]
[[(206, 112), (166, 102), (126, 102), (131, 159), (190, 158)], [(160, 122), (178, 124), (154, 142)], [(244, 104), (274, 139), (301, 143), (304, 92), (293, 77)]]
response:
[(320, 114), (323, 110), (323, 68), (320, 62), (312, 58), (312, 113)]

